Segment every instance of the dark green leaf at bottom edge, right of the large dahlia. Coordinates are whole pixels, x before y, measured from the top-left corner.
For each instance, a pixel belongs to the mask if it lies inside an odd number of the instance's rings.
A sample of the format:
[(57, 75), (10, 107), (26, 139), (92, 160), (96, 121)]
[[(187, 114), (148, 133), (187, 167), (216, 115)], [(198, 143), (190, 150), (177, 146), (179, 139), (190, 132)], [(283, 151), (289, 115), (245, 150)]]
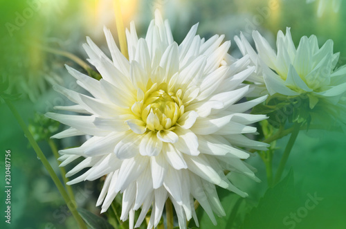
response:
[(291, 170), (280, 183), (266, 191), (257, 207), (245, 217), (242, 228), (285, 228), (284, 218), (299, 207)]

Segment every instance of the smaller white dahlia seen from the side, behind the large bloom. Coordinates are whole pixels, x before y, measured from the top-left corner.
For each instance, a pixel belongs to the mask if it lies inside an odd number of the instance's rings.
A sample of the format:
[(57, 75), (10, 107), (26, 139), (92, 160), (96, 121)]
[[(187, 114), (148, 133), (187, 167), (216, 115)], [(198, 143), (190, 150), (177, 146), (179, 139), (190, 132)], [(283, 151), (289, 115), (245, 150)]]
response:
[(247, 80), (254, 82), (257, 93), (275, 93), (288, 96), (307, 95), (309, 107), (313, 109), (323, 101), (331, 106), (341, 102), (346, 91), (346, 68), (334, 70), (339, 53), (333, 53), (330, 39), (321, 47), (315, 35), (302, 37), (295, 48), (290, 28), (286, 35), (277, 33), (277, 52), (258, 33), (253, 31), (257, 52), (244, 35), (235, 37), (243, 55), (249, 55), (256, 71)]

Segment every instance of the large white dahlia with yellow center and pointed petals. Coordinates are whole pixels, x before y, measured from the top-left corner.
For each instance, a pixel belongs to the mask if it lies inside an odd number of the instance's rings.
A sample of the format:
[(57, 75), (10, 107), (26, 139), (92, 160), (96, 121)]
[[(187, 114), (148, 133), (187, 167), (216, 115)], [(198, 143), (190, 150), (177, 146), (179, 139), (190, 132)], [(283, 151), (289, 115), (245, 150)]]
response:
[(247, 125), (266, 118), (243, 112), (266, 96), (235, 104), (248, 93), (242, 82), (254, 68), (247, 68), (248, 57), (226, 66), (225, 58), (232, 59), (227, 54), (230, 42), (221, 44), (223, 35), (205, 41), (196, 31), (197, 25), (178, 45), (168, 21), (156, 11), (145, 39), (138, 39), (134, 24), (127, 30), (129, 60), (106, 28), (112, 60), (88, 37), (84, 49), (103, 78), (94, 80), (66, 66), (91, 95), (56, 86), (76, 103), (56, 108), (85, 115), (46, 114), (71, 126), (54, 138), (92, 136), (80, 147), (61, 150), (61, 165), (84, 158), (67, 176), (90, 167), (70, 185), (107, 175), (97, 205), (105, 212), (116, 195), (123, 193), (120, 219), (129, 217), (130, 228), (140, 207), (136, 227), (149, 208), (148, 228), (156, 227), (167, 198), (181, 228), (192, 217), (197, 222), (194, 199), (216, 223), (213, 212), (219, 216), (225, 212), (215, 185), (247, 196), (228, 181), (224, 170), (258, 181), (242, 161), (249, 154), (239, 147), (266, 149), (266, 144), (243, 135), (256, 132)]

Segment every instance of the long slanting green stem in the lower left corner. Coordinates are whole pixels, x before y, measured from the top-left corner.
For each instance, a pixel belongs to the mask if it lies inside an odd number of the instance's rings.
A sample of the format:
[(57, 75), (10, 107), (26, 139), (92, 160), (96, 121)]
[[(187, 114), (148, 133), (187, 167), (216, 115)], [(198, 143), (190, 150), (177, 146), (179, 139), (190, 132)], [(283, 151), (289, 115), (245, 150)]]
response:
[(6, 100), (6, 99), (4, 99), (4, 100), (5, 100), (6, 104), (8, 105), (8, 108), (10, 109), (10, 111), (12, 111), (13, 116), (15, 116), (15, 118), (17, 119), (17, 122), (19, 123), (21, 129), (24, 131), (24, 134), (26, 135), (26, 138), (28, 138), (29, 143), (33, 146), (33, 149), (35, 150), (38, 158), (42, 161), (42, 164), (44, 165), (44, 167), (48, 171), (48, 174), (53, 179), (55, 185), (57, 186), (57, 189), (59, 190), (60, 194), (62, 195), (62, 198), (64, 199), (65, 203), (67, 204), (67, 207), (69, 208), (69, 210), (73, 214), (73, 217), (75, 217), (75, 220), (77, 221), (78, 225), (80, 226), (80, 228), (86, 229), (86, 225), (85, 225), (83, 219), (80, 217), (80, 215), (78, 214), (78, 212), (75, 208), (75, 203), (71, 201), (69, 194), (67, 194), (66, 190), (64, 189), (64, 186), (62, 185), (59, 178), (57, 177), (57, 174), (55, 174), (53, 168), (48, 163), (46, 156), (44, 156), (44, 153), (39, 148), (39, 145), (37, 145), (35, 139), (33, 138), (33, 135), (30, 133), (28, 127), (26, 127), (24, 120), (21, 118), (17, 109), (15, 109), (15, 107), (13, 106), (12, 102), (10, 102), (9, 100)]

